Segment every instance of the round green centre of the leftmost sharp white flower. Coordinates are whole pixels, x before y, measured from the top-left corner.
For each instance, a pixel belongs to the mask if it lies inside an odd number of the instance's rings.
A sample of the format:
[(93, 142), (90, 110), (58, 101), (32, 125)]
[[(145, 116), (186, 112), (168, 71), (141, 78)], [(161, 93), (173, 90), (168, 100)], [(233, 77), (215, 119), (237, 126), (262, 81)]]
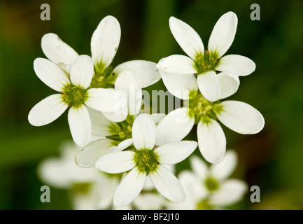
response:
[(87, 90), (78, 85), (65, 85), (62, 91), (62, 99), (70, 107), (80, 107), (88, 97)]

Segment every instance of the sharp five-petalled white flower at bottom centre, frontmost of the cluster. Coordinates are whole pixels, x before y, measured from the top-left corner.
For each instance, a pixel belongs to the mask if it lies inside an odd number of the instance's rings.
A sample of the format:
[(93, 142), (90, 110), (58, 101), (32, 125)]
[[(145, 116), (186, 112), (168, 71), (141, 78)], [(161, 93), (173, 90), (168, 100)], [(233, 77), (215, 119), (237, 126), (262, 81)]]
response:
[(155, 123), (147, 114), (141, 114), (134, 120), (132, 139), (134, 150), (108, 153), (96, 163), (97, 169), (112, 174), (130, 170), (115, 191), (115, 206), (132, 202), (141, 192), (147, 176), (164, 197), (172, 202), (183, 202), (185, 195), (181, 184), (163, 165), (181, 162), (195, 150), (197, 143), (176, 141), (154, 148)]

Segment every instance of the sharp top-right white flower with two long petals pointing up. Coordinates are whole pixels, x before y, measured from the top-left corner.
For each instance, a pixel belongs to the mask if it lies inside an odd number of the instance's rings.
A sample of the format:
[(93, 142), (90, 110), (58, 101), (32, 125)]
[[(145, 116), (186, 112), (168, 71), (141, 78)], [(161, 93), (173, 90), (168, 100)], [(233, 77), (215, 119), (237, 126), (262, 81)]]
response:
[(214, 71), (223, 71), (237, 76), (247, 76), (255, 71), (255, 63), (241, 55), (226, 55), (234, 41), (237, 30), (237, 15), (225, 13), (216, 23), (209, 38), (208, 50), (199, 34), (185, 22), (169, 18), (169, 27), (174, 38), (189, 56), (171, 55), (160, 60), (157, 68), (177, 75), (195, 74), (203, 96), (211, 102), (220, 99), (220, 85)]

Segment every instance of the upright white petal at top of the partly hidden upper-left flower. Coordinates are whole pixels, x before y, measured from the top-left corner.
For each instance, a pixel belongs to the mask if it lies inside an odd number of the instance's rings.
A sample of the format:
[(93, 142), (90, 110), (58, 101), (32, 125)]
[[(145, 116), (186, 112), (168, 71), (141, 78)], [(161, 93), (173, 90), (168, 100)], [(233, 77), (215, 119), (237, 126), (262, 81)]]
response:
[(95, 66), (101, 64), (107, 68), (111, 64), (118, 50), (120, 37), (120, 24), (116, 18), (108, 15), (101, 20), (92, 34), (90, 42), (92, 60)]

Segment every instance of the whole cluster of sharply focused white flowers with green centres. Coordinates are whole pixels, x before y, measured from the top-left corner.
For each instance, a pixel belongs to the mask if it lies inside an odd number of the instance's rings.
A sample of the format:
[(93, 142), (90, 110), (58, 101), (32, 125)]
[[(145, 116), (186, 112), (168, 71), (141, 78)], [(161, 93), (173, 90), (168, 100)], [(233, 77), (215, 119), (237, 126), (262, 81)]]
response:
[[(118, 20), (106, 16), (92, 34), (91, 56), (78, 55), (56, 34), (45, 34), (41, 46), (48, 59), (34, 60), (38, 78), (57, 93), (31, 109), (29, 123), (47, 125), (68, 109), (71, 137), (81, 148), (75, 155), (78, 168), (95, 167), (101, 172), (123, 174), (113, 195), (115, 207), (133, 202), (147, 182), (171, 202), (184, 202), (184, 181), (178, 181), (167, 166), (185, 160), (197, 146), (203, 158), (220, 169), (213, 168), (215, 172), (208, 174), (195, 156), (190, 158), (192, 168), (206, 188), (217, 189), (230, 174), (224, 168), (230, 166), (225, 162), (230, 155), (224, 157), (226, 139), (220, 123), (240, 134), (258, 133), (265, 125), (253, 106), (225, 100), (239, 89), (239, 77), (255, 70), (251, 59), (225, 55), (234, 41), (237, 15), (228, 12), (218, 20), (207, 50), (199, 34), (185, 22), (171, 17), (169, 28), (188, 56), (171, 55), (157, 64), (132, 60), (114, 67), (121, 31)], [(183, 101), (183, 106), (167, 115), (144, 113), (142, 89), (160, 79), (171, 94)], [(197, 141), (183, 140), (194, 125)], [(92, 140), (94, 137), (97, 140)], [(185, 185), (186, 179), (193, 179), (182, 176)], [(242, 189), (240, 185), (234, 184)], [(216, 205), (224, 192), (213, 194), (209, 203)], [(199, 200), (198, 207), (204, 198)]]

